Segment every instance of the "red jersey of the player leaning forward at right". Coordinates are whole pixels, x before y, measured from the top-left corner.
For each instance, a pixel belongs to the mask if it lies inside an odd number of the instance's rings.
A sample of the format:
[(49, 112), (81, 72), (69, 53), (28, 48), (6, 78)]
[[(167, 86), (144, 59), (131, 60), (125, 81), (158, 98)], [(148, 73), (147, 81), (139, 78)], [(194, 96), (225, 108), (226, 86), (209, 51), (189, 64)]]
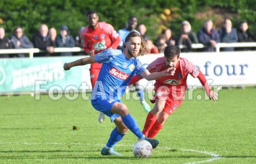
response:
[[(166, 70), (167, 66), (165, 64), (165, 57), (163, 56), (161, 58), (157, 58), (154, 62), (148, 65), (147, 69), (150, 71), (150, 73)], [(155, 83), (156, 85), (159, 85), (160, 83), (164, 84), (172, 91), (185, 93), (185, 90), (187, 89), (188, 74), (196, 78), (199, 75), (199, 70), (196, 66), (193, 65), (193, 63), (189, 62), (185, 58), (180, 57), (176, 65), (174, 75), (157, 79), (155, 80)]]

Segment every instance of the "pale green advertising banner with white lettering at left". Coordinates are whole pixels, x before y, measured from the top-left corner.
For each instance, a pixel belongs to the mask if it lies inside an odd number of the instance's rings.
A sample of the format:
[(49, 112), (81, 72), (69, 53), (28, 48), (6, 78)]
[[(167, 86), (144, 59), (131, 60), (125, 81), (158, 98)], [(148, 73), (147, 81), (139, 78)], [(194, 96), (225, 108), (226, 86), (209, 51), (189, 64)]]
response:
[(63, 90), (67, 86), (79, 89), (82, 82), (86, 82), (91, 88), (90, 65), (63, 70), (65, 62), (82, 57), (84, 56), (0, 59), (0, 93), (35, 92), (36, 81), (44, 81), (40, 87), (47, 91), (51, 86), (59, 86)]

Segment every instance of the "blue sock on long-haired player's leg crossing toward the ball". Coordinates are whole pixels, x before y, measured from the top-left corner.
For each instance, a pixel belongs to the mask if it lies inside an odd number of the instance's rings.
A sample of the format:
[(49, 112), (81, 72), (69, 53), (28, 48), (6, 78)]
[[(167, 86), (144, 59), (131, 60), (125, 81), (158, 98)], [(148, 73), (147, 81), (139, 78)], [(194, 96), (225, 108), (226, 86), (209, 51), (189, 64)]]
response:
[(127, 126), (127, 128), (131, 130), (131, 132), (135, 134), (135, 136), (137, 136), (138, 138), (142, 138), (144, 136), (142, 131), (140, 131), (140, 128), (137, 122), (134, 120), (134, 118), (130, 114), (123, 116), (121, 118), (124, 122), (124, 125)]

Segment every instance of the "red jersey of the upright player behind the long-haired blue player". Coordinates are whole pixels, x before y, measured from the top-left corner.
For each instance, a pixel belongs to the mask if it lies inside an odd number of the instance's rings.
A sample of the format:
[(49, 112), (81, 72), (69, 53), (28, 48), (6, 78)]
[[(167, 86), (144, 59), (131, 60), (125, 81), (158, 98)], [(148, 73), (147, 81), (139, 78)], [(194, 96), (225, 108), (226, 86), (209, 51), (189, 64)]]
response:
[[(83, 39), (84, 52), (94, 50), (94, 54), (101, 52), (109, 47), (114, 49), (120, 44), (121, 40), (113, 26), (105, 22), (98, 22), (98, 27), (90, 28), (87, 26), (81, 33)], [(91, 64), (91, 69), (100, 69), (102, 64), (97, 62)]]

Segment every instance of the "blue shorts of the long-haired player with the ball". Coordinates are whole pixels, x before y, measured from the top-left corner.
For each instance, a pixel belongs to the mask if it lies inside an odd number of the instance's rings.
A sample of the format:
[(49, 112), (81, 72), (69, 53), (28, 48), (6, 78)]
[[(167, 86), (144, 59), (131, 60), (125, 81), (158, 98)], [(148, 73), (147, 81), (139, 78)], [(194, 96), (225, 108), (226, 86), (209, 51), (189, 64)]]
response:
[(93, 105), (93, 108), (109, 116), (111, 122), (113, 122), (117, 117), (121, 117), (118, 114), (111, 113), (111, 108), (116, 102), (123, 103), (121, 100), (114, 100), (112, 98), (102, 99), (99, 95), (97, 95), (95, 99), (91, 99), (91, 105)]

